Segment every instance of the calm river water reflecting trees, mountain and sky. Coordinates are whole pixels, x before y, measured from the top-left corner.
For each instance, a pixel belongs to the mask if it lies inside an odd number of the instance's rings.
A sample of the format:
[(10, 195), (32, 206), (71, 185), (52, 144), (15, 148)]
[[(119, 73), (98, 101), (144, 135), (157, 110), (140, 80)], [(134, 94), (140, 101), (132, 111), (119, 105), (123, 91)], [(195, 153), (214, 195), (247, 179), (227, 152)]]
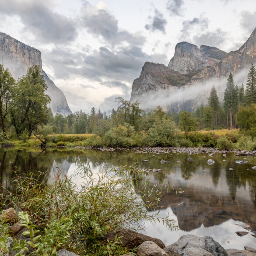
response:
[[(162, 172), (147, 177), (154, 183), (170, 182), (175, 189), (184, 191), (164, 191), (161, 200), (164, 206), (161, 214), (164, 216), (169, 212), (178, 222), (179, 231), (170, 231), (161, 224), (146, 223), (145, 234), (160, 238), (165, 245), (185, 234), (210, 235), (225, 249), (243, 249), (245, 245), (256, 246), (256, 238), (252, 236), (256, 233), (249, 232), (243, 237), (235, 234), (235, 231), (246, 231), (238, 224), (250, 224), (256, 231), (256, 170), (252, 169), (256, 166), (256, 158), (245, 159), (248, 161), (246, 165), (235, 163), (244, 158), (235, 154), (227, 154), (224, 158), (222, 154), (209, 157), (207, 154), (140, 154), (130, 150), (55, 150), (40, 153), (1, 149), (0, 177), (2, 182), (14, 177), (15, 166), (23, 175), (26, 172), (46, 171), (51, 174), (52, 165), (61, 167), (67, 175), (76, 172), (80, 164), (90, 165), (95, 172), (136, 162), (140, 168), (162, 168)], [(170, 163), (161, 164), (161, 159)], [(208, 165), (208, 159), (214, 159), (215, 164)], [(79, 183), (79, 179), (75, 182)], [(178, 206), (181, 202), (185, 206)]]

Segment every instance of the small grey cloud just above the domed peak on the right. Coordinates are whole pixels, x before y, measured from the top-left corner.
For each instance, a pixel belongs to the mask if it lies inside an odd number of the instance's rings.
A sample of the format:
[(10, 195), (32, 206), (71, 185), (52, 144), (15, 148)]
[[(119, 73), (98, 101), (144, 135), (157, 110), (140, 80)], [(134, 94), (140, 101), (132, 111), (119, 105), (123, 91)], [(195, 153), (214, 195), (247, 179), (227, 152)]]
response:
[(210, 31), (201, 35), (195, 35), (193, 41), (196, 45), (207, 45), (220, 47), (227, 39), (227, 33), (217, 28), (215, 31)]

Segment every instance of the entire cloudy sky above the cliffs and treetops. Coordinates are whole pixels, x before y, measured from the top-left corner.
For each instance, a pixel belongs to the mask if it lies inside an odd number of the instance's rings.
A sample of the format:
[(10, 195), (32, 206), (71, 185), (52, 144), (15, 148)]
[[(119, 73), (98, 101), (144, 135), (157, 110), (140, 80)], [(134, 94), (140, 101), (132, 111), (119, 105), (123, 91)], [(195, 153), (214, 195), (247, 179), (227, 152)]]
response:
[(255, 0), (0, 0), (0, 32), (42, 52), (70, 109), (130, 99), (146, 61), (168, 65), (175, 45), (238, 49), (256, 27)]

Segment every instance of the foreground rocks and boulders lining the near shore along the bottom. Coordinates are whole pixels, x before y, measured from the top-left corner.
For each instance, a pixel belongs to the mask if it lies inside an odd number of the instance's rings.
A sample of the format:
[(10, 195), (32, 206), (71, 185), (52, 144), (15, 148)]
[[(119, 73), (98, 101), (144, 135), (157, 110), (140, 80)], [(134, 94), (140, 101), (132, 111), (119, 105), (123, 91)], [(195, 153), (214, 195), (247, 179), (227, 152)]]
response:
[[(12, 250), (13, 238), (20, 239), (21, 241), (28, 241), (30, 238), (28, 235), (25, 235), (25, 228), (19, 225), (19, 222), (13, 224), (15, 220), (17, 220), (17, 214), (14, 208), (4, 210), (0, 218), (3, 217), (5, 220), (8, 219), (9, 231), (11, 233), (6, 244), (8, 252), (4, 255), (14, 256), (17, 251)], [(245, 229), (249, 228), (247, 226), (248, 225), (246, 225)], [(102, 243), (115, 241), (116, 237), (120, 237), (122, 245), (128, 249), (137, 247), (137, 256), (256, 256), (255, 248), (245, 246), (244, 250), (225, 250), (210, 236), (199, 237), (196, 235), (182, 235), (178, 241), (166, 246), (158, 238), (152, 238), (130, 229), (108, 232), (105, 234), (104, 238), (102, 238)], [(3, 255), (2, 252), (0, 252), (0, 255)], [(60, 249), (57, 252), (57, 256), (79, 255), (74, 252), (69, 252), (66, 249)], [(132, 256), (132, 254), (122, 256)]]

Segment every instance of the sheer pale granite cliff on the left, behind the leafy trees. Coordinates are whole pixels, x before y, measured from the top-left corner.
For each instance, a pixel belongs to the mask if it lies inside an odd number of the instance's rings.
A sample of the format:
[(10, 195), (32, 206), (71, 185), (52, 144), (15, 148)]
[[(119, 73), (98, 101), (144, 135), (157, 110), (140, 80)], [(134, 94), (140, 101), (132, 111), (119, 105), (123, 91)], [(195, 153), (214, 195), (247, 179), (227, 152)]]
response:
[[(41, 52), (19, 42), (10, 35), (0, 32), (0, 64), (2, 64), (5, 69), (8, 68), (12, 76), (17, 79), (25, 75), (32, 66), (37, 65), (42, 69)], [(46, 94), (52, 99), (49, 107), (53, 115), (56, 113), (62, 114), (63, 116), (72, 114), (63, 92), (56, 87), (43, 70), (42, 74), (48, 85)]]

